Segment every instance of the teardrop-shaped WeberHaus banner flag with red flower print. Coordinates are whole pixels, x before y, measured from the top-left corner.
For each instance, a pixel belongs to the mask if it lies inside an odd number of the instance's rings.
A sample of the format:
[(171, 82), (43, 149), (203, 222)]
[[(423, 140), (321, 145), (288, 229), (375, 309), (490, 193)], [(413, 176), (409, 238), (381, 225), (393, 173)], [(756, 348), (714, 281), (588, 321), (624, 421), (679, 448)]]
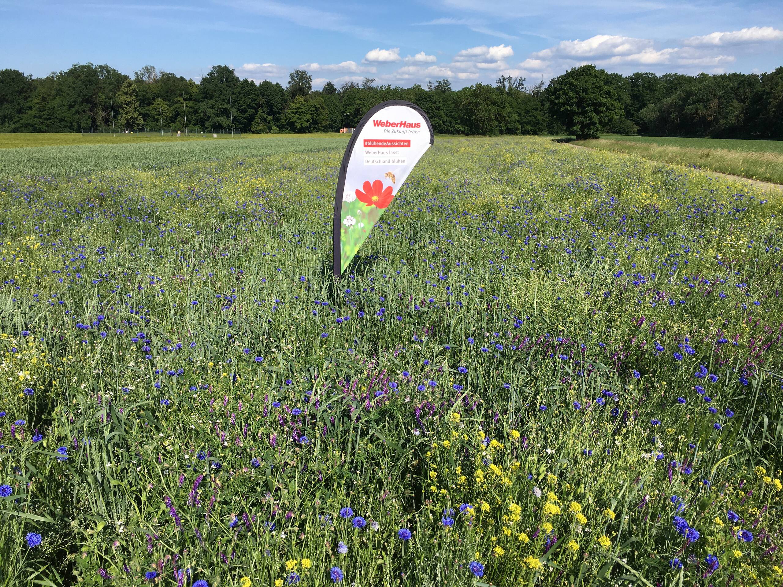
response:
[(381, 214), (435, 141), (416, 104), (389, 100), (373, 106), (345, 149), (334, 198), (334, 276), (339, 277)]

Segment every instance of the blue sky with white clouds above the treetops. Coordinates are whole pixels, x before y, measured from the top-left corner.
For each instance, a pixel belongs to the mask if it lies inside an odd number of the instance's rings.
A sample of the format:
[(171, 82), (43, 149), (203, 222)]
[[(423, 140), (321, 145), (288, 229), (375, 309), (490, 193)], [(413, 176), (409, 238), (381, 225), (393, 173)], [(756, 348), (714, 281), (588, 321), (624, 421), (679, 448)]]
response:
[(0, 0), (0, 69), (43, 76), (73, 63), (132, 75), (152, 64), (198, 80), (214, 64), (314, 87), (374, 77), (454, 87), (529, 84), (596, 63), (622, 74), (759, 73), (783, 65), (783, 2), (395, 0), (43, 2)]

